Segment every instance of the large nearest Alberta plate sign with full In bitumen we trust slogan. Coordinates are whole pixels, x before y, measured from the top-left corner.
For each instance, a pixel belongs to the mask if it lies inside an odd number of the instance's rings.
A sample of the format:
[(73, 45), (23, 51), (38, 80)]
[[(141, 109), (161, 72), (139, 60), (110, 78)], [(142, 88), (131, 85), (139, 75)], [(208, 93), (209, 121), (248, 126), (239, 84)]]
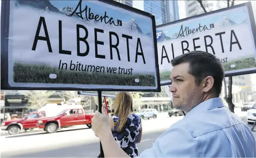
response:
[(158, 90), (154, 16), (114, 1), (3, 4), (4, 88)]

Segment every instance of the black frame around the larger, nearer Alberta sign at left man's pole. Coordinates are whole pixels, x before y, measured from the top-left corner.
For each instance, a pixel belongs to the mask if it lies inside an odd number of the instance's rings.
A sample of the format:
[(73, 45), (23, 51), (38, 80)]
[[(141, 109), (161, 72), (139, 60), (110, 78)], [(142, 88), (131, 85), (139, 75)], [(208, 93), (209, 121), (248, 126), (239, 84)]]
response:
[[(11, 0), (2, 0), (1, 1), (1, 90), (83, 90), (83, 91), (140, 91), (140, 92), (160, 92), (160, 75), (159, 75), (159, 65), (158, 65), (158, 53), (157, 53), (157, 42), (156, 42), (156, 22), (155, 16), (144, 12), (142, 10), (133, 8), (131, 6), (116, 2), (114, 0), (105, 1), (97, 0), (112, 6), (116, 6), (128, 11), (150, 17), (152, 19), (153, 27), (153, 46), (155, 52), (155, 64), (156, 64), (156, 85), (155, 89), (112, 89), (112, 88), (75, 88), (75, 87), (11, 87), (8, 80), (8, 41), (9, 41), (9, 15), (10, 15), (10, 1)], [(133, 86), (134, 87), (134, 86)]]

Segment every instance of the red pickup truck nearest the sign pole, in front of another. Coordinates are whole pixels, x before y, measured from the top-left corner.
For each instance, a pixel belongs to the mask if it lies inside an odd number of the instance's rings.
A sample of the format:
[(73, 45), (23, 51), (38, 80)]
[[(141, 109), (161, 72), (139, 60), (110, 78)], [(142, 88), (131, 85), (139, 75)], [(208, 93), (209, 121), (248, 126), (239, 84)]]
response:
[(41, 118), (37, 121), (37, 127), (47, 133), (55, 133), (58, 129), (75, 125), (86, 124), (91, 128), (91, 118), (94, 114), (85, 114), (83, 108), (65, 109), (54, 117)]

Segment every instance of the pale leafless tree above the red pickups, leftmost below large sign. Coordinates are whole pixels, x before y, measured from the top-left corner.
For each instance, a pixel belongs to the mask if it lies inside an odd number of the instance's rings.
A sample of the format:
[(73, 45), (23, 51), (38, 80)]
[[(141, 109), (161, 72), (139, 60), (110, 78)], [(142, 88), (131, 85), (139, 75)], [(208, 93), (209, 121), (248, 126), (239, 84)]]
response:
[(30, 102), (29, 108), (37, 110), (48, 103), (47, 98), (53, 95), (55, 91), (51, 90), (21, 90), (19, 93), (26, 96)]

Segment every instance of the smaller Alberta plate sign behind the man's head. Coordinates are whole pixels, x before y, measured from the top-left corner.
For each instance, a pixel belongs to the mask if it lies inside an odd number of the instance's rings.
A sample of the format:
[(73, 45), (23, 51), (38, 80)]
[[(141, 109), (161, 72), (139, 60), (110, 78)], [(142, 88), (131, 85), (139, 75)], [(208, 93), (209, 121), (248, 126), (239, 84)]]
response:
[(171, 60), (194, 50), (203, 50), (221, 59), (226, 75), (255, 73), (255, 32), (250, 3), (157, 26), (161, 84), (171, 82)]

